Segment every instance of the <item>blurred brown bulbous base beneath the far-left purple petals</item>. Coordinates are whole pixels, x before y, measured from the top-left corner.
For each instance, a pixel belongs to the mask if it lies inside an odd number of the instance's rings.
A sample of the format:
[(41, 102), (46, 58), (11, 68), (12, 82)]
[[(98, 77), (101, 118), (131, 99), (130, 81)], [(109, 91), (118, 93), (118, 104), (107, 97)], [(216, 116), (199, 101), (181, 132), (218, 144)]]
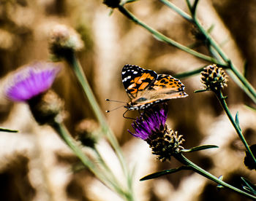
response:
[(64, 119), (64, 102), (53, 90), (34, 96), (28, 103), (39, 125), (51, 125), (53, 122), (62, 122)]

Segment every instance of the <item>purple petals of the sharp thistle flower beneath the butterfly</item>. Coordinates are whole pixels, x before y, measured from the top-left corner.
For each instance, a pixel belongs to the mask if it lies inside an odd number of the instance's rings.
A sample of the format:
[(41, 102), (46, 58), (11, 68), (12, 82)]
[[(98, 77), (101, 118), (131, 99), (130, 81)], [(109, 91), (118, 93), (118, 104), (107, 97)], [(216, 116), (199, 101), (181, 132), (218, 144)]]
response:
[(129, 130), (128, 132), (137, 138), (147, 140), (152, 133), (157, 133), (165, 129), (166, 119), (167, 106), (164, 105), (162, 108), (155, 106), (154, 108), (144, 111), (143, 114), (137, 117), (135, 122), (132, 123), (135, 133)]

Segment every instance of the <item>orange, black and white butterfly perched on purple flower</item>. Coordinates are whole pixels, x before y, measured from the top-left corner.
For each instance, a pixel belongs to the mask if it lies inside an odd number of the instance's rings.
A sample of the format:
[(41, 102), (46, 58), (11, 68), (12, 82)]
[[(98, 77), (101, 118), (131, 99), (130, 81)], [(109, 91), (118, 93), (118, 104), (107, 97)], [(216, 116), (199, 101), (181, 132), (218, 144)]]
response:
[(121, 71), (121, 79), (131, 99), (124, 106), (128, 110), (143, 110), (156, 103), (188, 96), (179, 79), (167, 74), (157, 74), (140, 66), (125, 65)]

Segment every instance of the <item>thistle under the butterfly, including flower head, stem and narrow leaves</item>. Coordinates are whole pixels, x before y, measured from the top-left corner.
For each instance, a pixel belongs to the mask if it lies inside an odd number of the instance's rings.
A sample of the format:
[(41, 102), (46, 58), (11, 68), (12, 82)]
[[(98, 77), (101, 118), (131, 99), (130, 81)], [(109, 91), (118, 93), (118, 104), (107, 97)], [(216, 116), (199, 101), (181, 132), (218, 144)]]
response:
[(216, 182), (219, 184), (219, 186), (242, 194), (252, 200), (256, 200), (256, 197), (252, 194), (241, 191), (240, 189), (225, 183), (222, 181), (222, 178), (217, 178), (211, 175), (211, 173), (208, 173), (206, 170), (203, 170), (203, 168), (195, 165), (195, 163), (187, 159), (187, 157), (184, 157), (184, 152), (200, 151), (204, 149), (217, 148), (218, 146), (203, 145), (193, 147), (192, 149), (184, 149), (181, 146), (181, 143), (184, 141), (182, 135), (178, 135), (177, 131), (168, 129), (167, 125), (165, 124), (166, 119), (167, 107), (165, 105), (163, 107), (154, 106), (153, 108), (143, 112), (143, 114), (140, 114), (140, 117), (138, 117), (135, 122), (132, 123), (135, 133), (132, 133), (129, 130), (128, 131), (133, 136), (146, 141), (152, 149), (152, 154), (156, 154), (157, 159), (159, 159), (161, 162), (165, 162), (165, 160), (170, 161), (170, 158), (174, 157), (183, 165), (175, 169), (162, 170), (157, 173), (152, 173), (141, 178), (140, 181), (176, 173), (181, 170), (192, 170), (195, 171), (195, 173)]

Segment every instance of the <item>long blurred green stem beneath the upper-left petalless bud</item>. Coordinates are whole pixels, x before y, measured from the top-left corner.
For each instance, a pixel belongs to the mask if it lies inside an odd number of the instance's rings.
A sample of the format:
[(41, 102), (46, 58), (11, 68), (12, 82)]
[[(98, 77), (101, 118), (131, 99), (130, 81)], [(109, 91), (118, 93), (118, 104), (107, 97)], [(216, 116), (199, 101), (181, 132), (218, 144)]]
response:
[[(116, 155), (117, 155), (119, 162), (121, 164), (121, 167), (124, 171), (124, 175), (127, 177), (127, 184), (129, 184), (129, 178), (128, 178), (129, 173), (127, 170), (126, 162), (124, 161), (124, 156), (122, 154), (121, 148), (118, 145), (118, 141), (116, 140), (116, 137), (113, 134), (112, 130), (110, 130), (110, 127), (108, 127), (108, 123), (107, 123), (104, 115), (102, 114), (102, 110), (99, 108), (99, 105), (97, 104), (97, 100), (94, 97), (94, 93), (91, 90), (91, 87), (89, 85), (88, 80), (86, 79), (85, 74), (83, 73), (83, 68), (80, 66), (80, 63), (75, 56), (75, 52), (72, 52), (72, 54), (69, 55), (69, 58), (66, 58), (66, 59), (67, 59), (67, 62), (69, 63), (69, 65), (72, 66), (72, 68), (75, 72), (75, 76), (77, 76), (78, 81), (80, 82), (81, 86), (83, 87), (83, 90), (86, 93), (86, 96), (89, 100), (89, 103), (91, 104), (94, 114), (96, 115), (96, 117), (99, 121), (99, 124), (102, 127), (103, 133), (106, 134), (108, 140), (110, 141), (111, 146), (116, 151)], [(131, 186), (129, 186), (129, 189), (130, 188), (131, 188)], [(132, 192), (129, 195), (129, 197), (131, 197), (131, 200), (132, 200)]]

